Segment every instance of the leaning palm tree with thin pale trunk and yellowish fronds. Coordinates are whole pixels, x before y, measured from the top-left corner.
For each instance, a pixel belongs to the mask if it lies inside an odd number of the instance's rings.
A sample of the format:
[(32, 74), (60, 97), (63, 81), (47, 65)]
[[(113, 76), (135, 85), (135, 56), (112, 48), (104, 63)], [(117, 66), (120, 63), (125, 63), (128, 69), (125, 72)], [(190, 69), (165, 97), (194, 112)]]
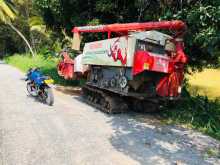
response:
[(32, 56), (34, 56), (34, 51), (26, 37), (12, 24), (11, 21), (15, 18), (16, 14), (11, 6), (5, 0), (0, 0), (0, 22), (4, 22), (5, 24), (9, 25), (24, 40)]

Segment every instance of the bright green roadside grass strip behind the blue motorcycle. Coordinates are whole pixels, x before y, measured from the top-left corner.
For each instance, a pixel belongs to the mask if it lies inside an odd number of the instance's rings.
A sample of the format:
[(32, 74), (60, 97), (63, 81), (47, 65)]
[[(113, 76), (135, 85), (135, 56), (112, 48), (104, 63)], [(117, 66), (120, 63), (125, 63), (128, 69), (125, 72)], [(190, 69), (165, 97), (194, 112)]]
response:
[(71, 86), (77, 85), (78, 82), (74, 80), (64, 80), (57, 74), (58, 58), (44, 57), (43, 55), (36, 55), (32, 57), (27, 54), (15, 54), (4, 58), (4, 61), (23, 72), (27, 72), (29, 68), (40, 67), (41, 71), (54, 79), (55, 84)]

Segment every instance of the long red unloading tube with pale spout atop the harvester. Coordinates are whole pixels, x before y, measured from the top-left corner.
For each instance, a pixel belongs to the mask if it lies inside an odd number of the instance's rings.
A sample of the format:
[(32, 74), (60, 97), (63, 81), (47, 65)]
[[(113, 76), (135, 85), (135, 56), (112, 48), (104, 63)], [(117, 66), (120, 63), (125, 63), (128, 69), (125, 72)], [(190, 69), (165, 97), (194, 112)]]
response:
[(74, 34), (72, 49), (80, 50), (81, 33), (98, 33), (107, 32), (108, 38), (111, 38), (111, 33), (128, 34), (129, 31), (149, 31), (149, 30), (173, 30), (176, 32), (174, 38), (182, 35), (186, 30), (186, 24), (180, 20), (173, 21), (158, 21), (158, 22), (144, 22), (144, 23), (116, 23), (109, 25), (97, 26), (80, 26), (74, 27), (72, 32)]

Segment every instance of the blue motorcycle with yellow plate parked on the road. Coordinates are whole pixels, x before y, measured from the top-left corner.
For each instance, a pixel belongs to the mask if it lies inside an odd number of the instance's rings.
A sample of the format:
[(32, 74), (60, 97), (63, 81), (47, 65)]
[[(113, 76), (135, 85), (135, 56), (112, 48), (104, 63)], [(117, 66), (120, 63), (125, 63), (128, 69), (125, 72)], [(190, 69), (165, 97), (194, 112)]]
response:
[(27, 74), (27, 91), (40, 101), (52, 106), (54, 103), (54, 95), (51, 89), (53, 79), (49, 76), (44, 76), (39, 68), (29, 69)]

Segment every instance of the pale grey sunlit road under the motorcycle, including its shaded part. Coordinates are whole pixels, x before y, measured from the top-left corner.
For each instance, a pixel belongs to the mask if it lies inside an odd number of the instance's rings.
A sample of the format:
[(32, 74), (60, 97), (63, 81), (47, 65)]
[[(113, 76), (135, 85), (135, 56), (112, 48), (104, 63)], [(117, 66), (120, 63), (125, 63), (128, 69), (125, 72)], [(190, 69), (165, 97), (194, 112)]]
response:
[(27, 95), (23, 79), (0, 62), (2, 165), (220, 164), (210, 137), (144, 114), (106, 115), (59, 92), (49, 107)]

